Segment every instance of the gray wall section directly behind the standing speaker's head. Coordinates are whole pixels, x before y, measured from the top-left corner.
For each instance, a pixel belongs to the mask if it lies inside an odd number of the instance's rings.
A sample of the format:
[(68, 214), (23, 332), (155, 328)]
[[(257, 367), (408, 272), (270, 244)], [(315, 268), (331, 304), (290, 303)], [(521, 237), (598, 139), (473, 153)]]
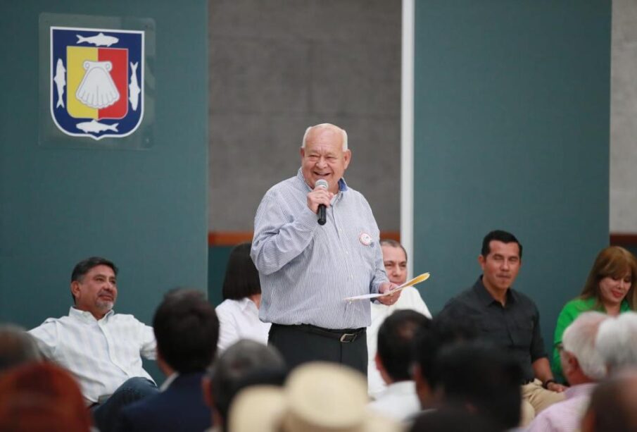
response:
[(351, 187), (400, 220), (400, 0), (210, 0), (208, 227), (252, 230), (308, 125), (348, 132)]

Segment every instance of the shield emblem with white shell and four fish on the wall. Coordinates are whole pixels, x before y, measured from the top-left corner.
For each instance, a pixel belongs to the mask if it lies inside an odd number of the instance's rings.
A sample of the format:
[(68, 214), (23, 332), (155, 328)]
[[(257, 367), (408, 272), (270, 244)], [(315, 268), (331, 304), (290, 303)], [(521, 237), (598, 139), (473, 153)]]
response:
[(51, 27), (51, 116), (67, 135), (126, 137), (144, 117), (144, 32)]

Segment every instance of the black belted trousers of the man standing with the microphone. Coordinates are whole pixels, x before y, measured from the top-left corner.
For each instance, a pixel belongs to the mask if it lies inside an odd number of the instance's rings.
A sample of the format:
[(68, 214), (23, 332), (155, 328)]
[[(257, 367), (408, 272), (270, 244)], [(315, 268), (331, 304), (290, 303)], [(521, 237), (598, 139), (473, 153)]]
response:
[(305, 362), (334, 362), (367, 376), (365, 328), (328, 330), (306, 324), (272, 324), (267, 343), (281, 352), (290, 369)]

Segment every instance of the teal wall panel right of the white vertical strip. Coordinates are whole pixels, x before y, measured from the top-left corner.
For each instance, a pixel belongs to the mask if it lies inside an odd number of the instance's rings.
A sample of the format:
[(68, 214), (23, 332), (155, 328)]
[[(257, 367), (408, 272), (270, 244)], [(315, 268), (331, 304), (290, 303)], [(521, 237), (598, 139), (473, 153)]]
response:
[[(416, 0), (414, 269), (432, 311), (479, 276), (493, 229), (515, 288), (562, 305), (608, 243), (610, 18), (602, 0)], [(424, 286), (426, 285), (426, 286)]]

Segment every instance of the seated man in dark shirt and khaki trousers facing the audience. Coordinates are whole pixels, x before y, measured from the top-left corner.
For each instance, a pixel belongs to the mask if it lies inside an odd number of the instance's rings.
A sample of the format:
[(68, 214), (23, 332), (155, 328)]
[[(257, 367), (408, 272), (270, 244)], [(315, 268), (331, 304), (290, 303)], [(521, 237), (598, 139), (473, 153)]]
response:
[(482, 276), (472, 288), (450, 300), (441, 315), (470, 320), (481, 337), (511, 352), (522, 366), (522, 421), (564, 400), (555, 383), (540, 332), (540, 314), (529, 297), (511, 288), (522, 265), (522, 245), (515, 235), (491, 231), (482, 241), (478, 262)]

